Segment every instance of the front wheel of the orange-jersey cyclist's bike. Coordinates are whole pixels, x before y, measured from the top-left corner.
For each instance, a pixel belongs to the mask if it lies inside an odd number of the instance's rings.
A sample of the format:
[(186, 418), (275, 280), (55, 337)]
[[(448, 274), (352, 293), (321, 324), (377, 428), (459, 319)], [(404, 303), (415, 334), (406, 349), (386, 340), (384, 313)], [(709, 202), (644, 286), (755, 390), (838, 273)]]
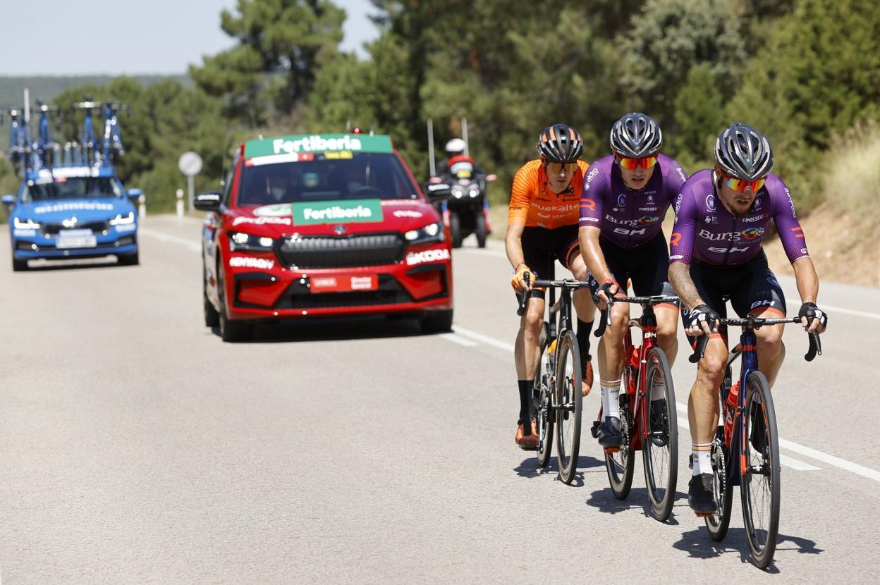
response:
[(581, 449), (581, 355), (575, 333), (562, 332), (556, 351), (556, 457), (559, 475), (567, 484), (575, 479)]

